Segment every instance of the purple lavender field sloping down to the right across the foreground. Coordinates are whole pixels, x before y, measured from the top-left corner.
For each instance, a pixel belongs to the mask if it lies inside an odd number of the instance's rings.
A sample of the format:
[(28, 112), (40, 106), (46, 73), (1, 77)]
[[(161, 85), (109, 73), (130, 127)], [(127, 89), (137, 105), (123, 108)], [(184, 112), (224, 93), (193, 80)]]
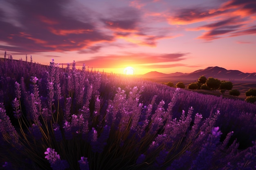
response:
[(6, 170), (256, 169), (256, 104), (75, 62), (1, 59), (0, 131)]

